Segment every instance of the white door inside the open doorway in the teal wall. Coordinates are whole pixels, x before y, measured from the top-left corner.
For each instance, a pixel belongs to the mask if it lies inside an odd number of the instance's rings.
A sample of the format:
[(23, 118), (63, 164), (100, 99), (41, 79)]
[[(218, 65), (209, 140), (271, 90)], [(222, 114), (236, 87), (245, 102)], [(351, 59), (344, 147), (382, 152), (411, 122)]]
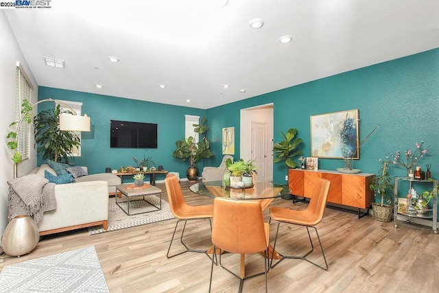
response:
[(267, 180), (267, 124), (253, 122), (250, 138), (250, 159), (257, 165), (257, 182)]

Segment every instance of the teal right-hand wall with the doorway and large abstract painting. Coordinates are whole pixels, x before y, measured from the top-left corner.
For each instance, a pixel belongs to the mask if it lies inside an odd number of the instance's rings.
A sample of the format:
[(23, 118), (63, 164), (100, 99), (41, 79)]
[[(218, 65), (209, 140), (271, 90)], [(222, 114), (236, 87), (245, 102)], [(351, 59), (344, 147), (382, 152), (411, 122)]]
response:
[[(439, 49), (210, 108), (206, 117), (213, 152), (221, 153), (221, 128), (235, 126), (235, 158), (239, 157), (239, 110), (268, 103), (274, 104), (274, 141), (281, 141), (279, 131), (297, 128), (304, 156), (311, 154), (311, 115), (359, 109), (360, 139), (380, 127), (362, 145), (355, 168), (376, 173), (386, 153), (414, 150), (416, 142), (425, 141), (432, 150), (420, 165), (425, 169), (431, 164), (432, 176), (439, 178)], [(319, 160), (320, 169), (343, 165), (342, 159)], [(405, 176), (405, 169), (394, 166), (390, 174)], [(285, 183), (283, 163), (274, 164), (274, 182)]]

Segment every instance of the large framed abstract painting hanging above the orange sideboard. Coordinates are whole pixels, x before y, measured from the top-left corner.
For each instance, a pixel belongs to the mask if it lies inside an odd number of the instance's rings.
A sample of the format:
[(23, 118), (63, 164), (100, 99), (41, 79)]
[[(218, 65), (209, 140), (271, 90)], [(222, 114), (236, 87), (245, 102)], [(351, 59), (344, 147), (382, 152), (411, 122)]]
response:
[[(343, 159), (359, 148), (359, 111), (313, 115), (311, 123), (311, 156)], [(356, 152), (353, 159), (359, 159)]]

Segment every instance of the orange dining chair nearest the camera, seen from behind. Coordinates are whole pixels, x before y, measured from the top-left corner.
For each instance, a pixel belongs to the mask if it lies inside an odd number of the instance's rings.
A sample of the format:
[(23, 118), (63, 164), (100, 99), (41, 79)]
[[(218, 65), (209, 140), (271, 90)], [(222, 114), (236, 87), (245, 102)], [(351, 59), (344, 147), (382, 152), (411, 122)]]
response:
[[(265, 292), (267, 292), (267, 273), (270, 270), (268, 257), (270, 225), (263, 222), (262, 208), (259, 201), (255, 200), (232, 200), (227, 198), (215, 198), (213, 202), (213, 226), (212, 243), (213, 257), (211, 266), (211, 292), (213, 278), (213, 259), (216, 259), (217, 249), (219, 253), (219, 265), (235, 277), (239, 278), (239, 292), (245, 279), (265, 274)], [(241, 275), (238, 276), (221, 262), (221, 252), (238, 253), (241, 255)], [(245, 255), (252, 253), (264, 253), (264, 271), (245, 277)]]

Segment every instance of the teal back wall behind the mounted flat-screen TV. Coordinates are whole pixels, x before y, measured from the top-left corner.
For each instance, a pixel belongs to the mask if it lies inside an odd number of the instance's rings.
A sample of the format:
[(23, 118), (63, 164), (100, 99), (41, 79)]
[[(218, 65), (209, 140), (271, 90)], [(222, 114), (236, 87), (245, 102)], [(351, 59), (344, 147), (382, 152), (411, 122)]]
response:
[[(38, 87), (38, 99), (62, 99), (82, 102), (82, 113), (91, 117), (91, 132), (82, 132), (82, 156), (76, 157), (75, 165), (85, 165), (90, 174), (105, 172), (106, 167), (119, 169), (132, 165), (132, 156), (142, 159), (143, 155), (152, 156), (155, 166), (179, 172), (183, 178), (189, 162), (175, 159), (175, 141), (185, 136), (185, 115), (204, 117), (205, 110), (167, 104), (143, 102), (136, 99), (123, 99), (106, 95)], [(54, 103), (38, 105), (38, 111), (54, 108)], [(110, 120), (156, 123), (158, 126), (158, 148), (110, 148)], [(38, 156), (38, 165), (44, 163)], [(202, 162), (198, 165), (202, 169)], [(164, 176), (158, 176), (157, 180)], [(128, 180), (131, 178), (127, 178)]]

